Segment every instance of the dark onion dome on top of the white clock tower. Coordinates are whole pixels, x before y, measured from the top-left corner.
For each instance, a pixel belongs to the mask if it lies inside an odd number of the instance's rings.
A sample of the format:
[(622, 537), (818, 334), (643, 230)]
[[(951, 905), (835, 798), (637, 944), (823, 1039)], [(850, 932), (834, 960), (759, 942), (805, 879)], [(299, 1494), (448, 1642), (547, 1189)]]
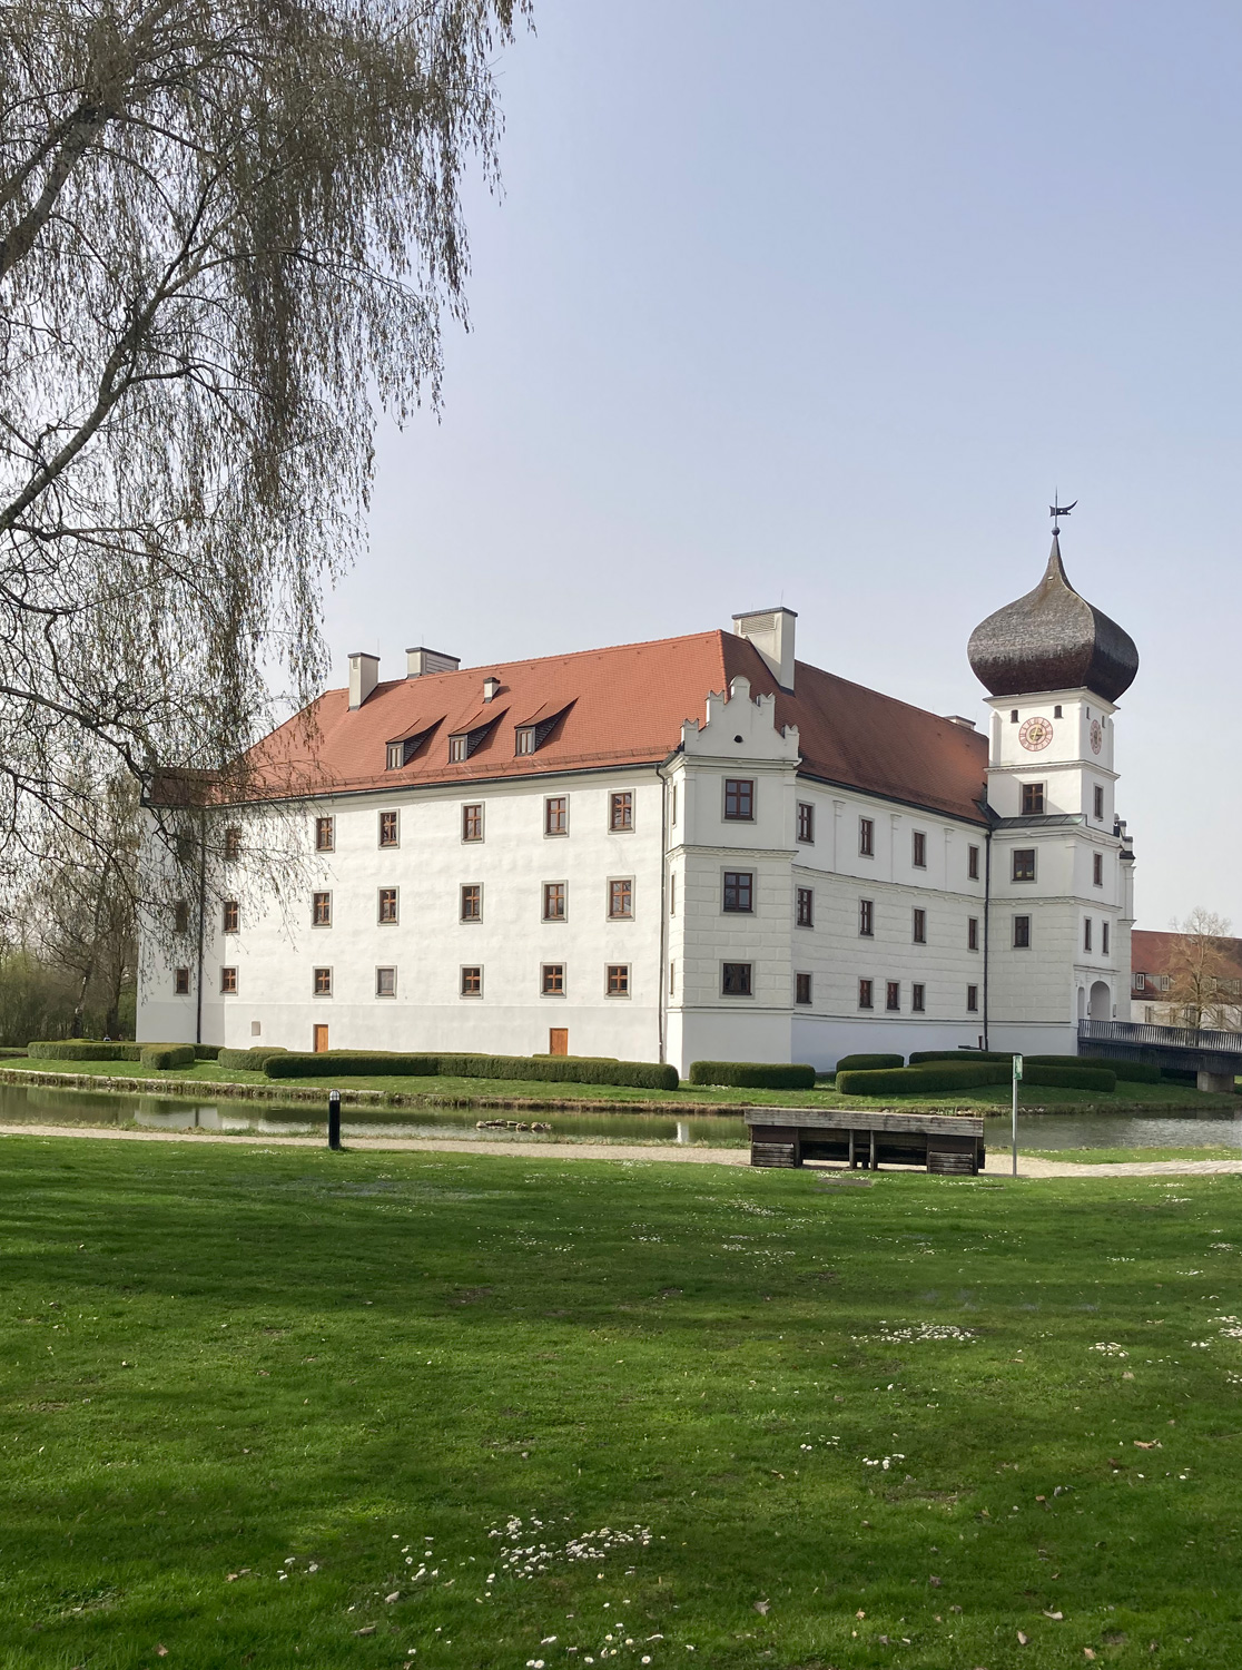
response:
[(1087, 688), (1115, 701), (1138, 671), (1133, 638), (1065, 578), (1055, 531), (1043, 579), (980, 621), (967, 655), (993, 696)]

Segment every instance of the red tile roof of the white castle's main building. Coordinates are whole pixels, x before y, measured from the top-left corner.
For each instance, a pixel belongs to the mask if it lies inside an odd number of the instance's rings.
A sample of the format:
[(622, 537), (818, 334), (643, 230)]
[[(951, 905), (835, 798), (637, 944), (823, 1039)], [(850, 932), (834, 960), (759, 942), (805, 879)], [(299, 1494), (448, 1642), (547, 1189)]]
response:
[[(501, 681), (492, 703), (482, 701), (487, 675)], [(684, 720), (704, 720), (708, 693), (726, 691), (738, 675), (753, 695), (776, 695), (778, 725), (798, 726), (805, 775), (985, 822), (982, 735), (805, 661), (796, 695), (786, 695), (755, 646), (724, 631), (394, 680), (354, 711), (347, 690), (329, 690), (250, 750), (250, 792), (392, 790), (658, 763), (678, 748)], [(514, 753), (518, 725), (563, 710), (538, 753)], [(447, 738), (492, 715), (501, 723), (467, 760), (451, 763)], [(386, 743), (431, 726), (409, 765), (386, 770)]]

